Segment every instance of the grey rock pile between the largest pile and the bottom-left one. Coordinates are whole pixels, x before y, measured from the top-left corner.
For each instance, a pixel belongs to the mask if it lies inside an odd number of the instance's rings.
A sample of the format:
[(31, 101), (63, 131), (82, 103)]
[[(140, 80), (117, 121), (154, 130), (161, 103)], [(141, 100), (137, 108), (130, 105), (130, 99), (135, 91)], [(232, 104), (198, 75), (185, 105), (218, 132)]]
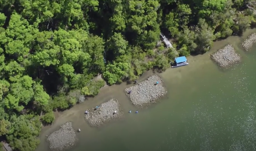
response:
[[(99, 108), (89, 109), (89, 113), (85, 114), (85, 119), (91, 126), (101, 126), (114, 118), (123, 116), (120, 104), (116, 99), (102, 103)], [(114, 113), (116, 111), (116, 113)]]

